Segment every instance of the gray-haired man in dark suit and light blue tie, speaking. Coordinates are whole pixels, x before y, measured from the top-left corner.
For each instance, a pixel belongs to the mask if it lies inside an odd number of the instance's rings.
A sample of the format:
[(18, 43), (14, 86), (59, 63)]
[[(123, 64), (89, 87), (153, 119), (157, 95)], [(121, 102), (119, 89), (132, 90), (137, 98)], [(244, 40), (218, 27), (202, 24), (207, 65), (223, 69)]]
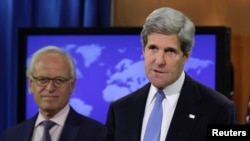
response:
[[(141, 39), (150, 83), (111, 103), (105, 141), (206, 141), (207, 125), (237, 123), (231, 100), (184, 71), (194, 35), (195, 25), (175, 9), (159, 8), (147, 17)], [(159, 94), (161, 109), (151, 114)], [(160, 122), (150, 125), (158, 113)]]

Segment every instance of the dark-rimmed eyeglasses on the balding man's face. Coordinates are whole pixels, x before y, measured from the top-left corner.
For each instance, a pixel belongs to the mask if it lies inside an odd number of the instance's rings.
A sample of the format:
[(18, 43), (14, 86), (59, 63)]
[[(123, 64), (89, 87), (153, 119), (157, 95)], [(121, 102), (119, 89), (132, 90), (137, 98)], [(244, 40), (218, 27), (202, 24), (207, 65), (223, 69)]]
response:
[(55, 87), (60, 88), (62, 87), (66, 82), (71, 80), (71, 78), (64, 78), (64, 77), (55, 77), (55, 78), (49, 78), (49, 77), (35, 77), (33, 76), (33, 79), (35, 80), (37, 86), (39, 87), (45, 87), (49, 84), (50, 80), (52, 80)]

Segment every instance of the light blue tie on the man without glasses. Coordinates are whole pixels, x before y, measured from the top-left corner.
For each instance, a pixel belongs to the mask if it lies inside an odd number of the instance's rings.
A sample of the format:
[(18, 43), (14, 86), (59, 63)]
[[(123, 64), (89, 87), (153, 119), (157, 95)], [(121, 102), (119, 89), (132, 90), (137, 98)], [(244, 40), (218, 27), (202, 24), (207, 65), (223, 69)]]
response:
[(159, 141), (162, 121), (162, 100), (165, 98), (163, 91), (158, 91), (154, 108), (150, 114), (147, 128), (144, 135), (144, 141)]

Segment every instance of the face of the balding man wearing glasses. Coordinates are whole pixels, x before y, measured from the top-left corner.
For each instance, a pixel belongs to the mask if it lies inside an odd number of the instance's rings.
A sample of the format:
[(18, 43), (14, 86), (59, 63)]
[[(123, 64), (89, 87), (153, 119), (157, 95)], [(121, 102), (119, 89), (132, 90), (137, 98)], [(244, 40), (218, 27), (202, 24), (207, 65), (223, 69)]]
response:
[[(29, 78), (28, 82), (35, 102), (42, 113), (53, 116), (68, 103), (75, 87), (75, 80), (70, 78), (68, 61), (59, 54), (43, 55), (35, 62), (32, 75), (33, 78)], [(57, 78), (57, 82), (48, 80), (45, 85), (47, 78)], [(58, 85), (61, 80), (64, 80), (63, 83)]]

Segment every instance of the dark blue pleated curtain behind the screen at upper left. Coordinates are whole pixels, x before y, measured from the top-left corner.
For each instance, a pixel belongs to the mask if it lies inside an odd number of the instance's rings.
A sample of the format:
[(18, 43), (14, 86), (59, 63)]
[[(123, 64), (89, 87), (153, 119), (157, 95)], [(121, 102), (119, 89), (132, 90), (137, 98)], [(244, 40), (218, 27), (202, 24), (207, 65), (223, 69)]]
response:
[(17, 124), (19, 27), (109, 27), (111, 0), (0, 0), (0, 133)]

